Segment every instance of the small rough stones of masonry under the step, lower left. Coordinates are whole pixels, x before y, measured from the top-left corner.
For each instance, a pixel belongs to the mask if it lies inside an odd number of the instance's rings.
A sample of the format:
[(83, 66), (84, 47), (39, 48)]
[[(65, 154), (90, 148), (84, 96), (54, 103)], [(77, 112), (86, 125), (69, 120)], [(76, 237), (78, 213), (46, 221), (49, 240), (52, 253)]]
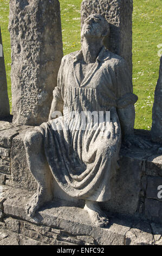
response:
[[(94, 245), (95, 240), (88, 235), (72, 235), (61, 229), (47, 227), (45, 225), (35, 225), (27, 221), (16, 220), (15, 218), (5, 217), (4, 230), (11, 230), (21, 234), (21, 239), (28, 237), (28, 243), (34, 245)], [(4, 233), (5, 233), (4, 231)], [(0, 242), (1, 245), (1, 242)]]

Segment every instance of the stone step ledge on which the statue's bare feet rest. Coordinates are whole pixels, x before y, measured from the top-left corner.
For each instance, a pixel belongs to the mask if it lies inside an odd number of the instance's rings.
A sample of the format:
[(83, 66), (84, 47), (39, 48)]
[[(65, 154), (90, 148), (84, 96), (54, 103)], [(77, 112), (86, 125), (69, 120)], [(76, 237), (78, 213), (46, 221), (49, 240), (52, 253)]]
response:
[[(0, 186), (0, 211), (3, 209), (3, 217), (11, 216), (35, 225), (61, 229), (72, 235), (92, 236), (99, 245), (155, 245), (160, 240), (162, 242), (160, 224), (111, 217), (108, 228), (94, 227), (87, 212), (72, 205), (72, 202), (50, 202), (34, 218), (30, 218), (25, 212), (25, 204), (31, 196), (32, 193), (20, 188)], [(157, 230), (160, 230), (159, 234)]]

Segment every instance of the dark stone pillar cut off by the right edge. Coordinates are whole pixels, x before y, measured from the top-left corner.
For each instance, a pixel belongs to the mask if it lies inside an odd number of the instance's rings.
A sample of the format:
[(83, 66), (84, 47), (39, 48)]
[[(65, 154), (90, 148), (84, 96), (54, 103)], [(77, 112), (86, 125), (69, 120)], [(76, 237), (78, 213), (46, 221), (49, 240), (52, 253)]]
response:
[(151, 134), (154, 142), (162, 144), (162, 56), (160, 58), (159, 79), (154, 94)]

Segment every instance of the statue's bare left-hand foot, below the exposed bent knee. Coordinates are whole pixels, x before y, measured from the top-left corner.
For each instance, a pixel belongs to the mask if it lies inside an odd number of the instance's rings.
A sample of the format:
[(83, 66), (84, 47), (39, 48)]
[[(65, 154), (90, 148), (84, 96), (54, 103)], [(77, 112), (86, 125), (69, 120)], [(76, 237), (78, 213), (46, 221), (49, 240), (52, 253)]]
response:
[(38, 186), (37, 192), (31, 197), (27, 205), (25, 206), (25, 211), (30, 217), (34, 217), (35, 212), (43, 206), (45, 203), (49, 202), (52, 198), (43, 191), (43, 188)]

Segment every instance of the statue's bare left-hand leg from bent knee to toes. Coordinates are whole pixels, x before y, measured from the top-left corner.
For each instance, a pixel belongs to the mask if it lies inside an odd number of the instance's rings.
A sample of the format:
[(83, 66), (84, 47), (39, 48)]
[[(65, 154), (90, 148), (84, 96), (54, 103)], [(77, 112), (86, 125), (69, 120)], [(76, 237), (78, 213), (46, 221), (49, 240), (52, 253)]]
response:
[(37, 192), (25, 207), (27, 214), (33, 216), (46, 202), (53, 199), (51, 191), (52, 176), (43, 150), (43, 136), (40, 132), (28, 132), (24, 138), (27, 162), (37, 181)]

